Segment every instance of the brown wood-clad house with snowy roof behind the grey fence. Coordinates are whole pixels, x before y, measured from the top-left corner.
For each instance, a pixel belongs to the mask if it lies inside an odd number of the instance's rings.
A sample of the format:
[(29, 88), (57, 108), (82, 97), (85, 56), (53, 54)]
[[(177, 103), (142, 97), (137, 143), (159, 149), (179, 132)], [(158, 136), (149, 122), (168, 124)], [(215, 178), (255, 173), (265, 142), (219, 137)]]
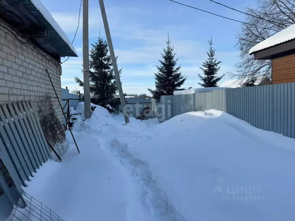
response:
[(272, 84), (295, 82), (295, 24), (256, 44), (249, 54), (271, 60)]

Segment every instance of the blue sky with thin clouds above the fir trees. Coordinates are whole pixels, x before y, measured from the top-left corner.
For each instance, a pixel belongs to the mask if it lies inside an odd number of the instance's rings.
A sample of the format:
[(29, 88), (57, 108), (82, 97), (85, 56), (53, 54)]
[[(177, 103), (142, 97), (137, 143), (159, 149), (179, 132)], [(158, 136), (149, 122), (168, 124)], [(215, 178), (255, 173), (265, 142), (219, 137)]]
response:
[[(253, 0), (219, 0), (221, 3), (243, 10)], [(183, 4), (195, 6), (233, 19), (243, 20), (243, 14), (224, 8), (209, 0), (179, 0)], [(53, 18), (72, 40), (78, 24), (80, 0), (42, 0)], [(212, 37), (216, 58), (222, 63), (219, 74), (233, 71), (238, 61), (235, 50), (239, 22), (230, 21), (191, 9), (168, 0), (107, 0), (106, 13), (112, 35), (118, 67), (123, 68), (121, 81), (124, 93), (148, 93), (154, 88), (154, 74), (159, 64), (160, 52), (169, 38), (175, 46), (178, 64), (187, 76), (185, 87), (198, 88), (201, 63), (207, 59), (208, 39)], [(82, 11), (82, 9), (81, 9)], [(82, 21), (82, 12), (80, 22)], [(99, 37), (105, 37), (98, 0), (89, 0), (89, 44)], [(79, 88), (74, 76), (81, 77), (82, 65), (82, 25), (77, 32), (74, 46), (77, 58), (70, 57), (63, 65), (62, 87), (69, 90)], [(62, 59), (63, 61), (64, 59)], [(220, 86), (230, 86), (233, 80), (225, 76)]]

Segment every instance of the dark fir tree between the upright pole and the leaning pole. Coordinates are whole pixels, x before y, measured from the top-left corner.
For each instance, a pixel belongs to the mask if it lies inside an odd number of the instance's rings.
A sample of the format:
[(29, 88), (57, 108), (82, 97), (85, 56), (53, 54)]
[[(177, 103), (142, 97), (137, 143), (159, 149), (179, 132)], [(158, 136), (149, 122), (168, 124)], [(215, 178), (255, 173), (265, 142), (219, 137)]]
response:
[[(89, 52), (91, 103), (107, 108), (110, 112), (114, 112), (119, 108), (120, 100), (119, 98), (114, 98), (118, 89), (112, 59), (108, 53), (107, 41), (99, 37), (98, 41), (91, 44), (91, 46), (92, 48)], [(75, 77), (75, 81), (80, 87), (84, 86), (83, 81), (78, 77)], [(112, 109), (109, 108), (108, 104)]]

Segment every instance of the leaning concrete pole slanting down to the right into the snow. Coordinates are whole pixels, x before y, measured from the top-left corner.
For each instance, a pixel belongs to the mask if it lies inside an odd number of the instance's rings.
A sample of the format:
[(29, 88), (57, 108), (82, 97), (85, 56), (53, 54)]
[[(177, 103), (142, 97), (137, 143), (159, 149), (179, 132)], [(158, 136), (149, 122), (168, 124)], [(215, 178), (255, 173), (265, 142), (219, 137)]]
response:
[[(109, 51), (110, 51), (110, 55), (111, 55), (111, 58), (112, 58), (112, 63), (113, 63), (113, 68), (114, 68), (115, 77), (116, 77), (116, 81), (117, 81), (117, 87), (118, 87), (118, 91), (119, 91), (119, 96), (120, 96), (121, 104), (122, 104), (122, 107), (123, 107), (123, 110), (124, 110), (125, 98), (124, 98), (124, 94), (123, 94), (123, 90), (122, 90), (122, 84), (121, 84), (121, 80), (120, 80), (120, 75), (119, 75), (119, 70), (118, 70), (118, 66), (117, 66), (116, 56), (115, 56), (115, 52), (114, 52), (114, 48), (113, 48), (113, 44), (112, 44), (109, 24), (108, 24), (108, 20), (106, 18), (106, 10), (104, 8), (104, 1), (99, 0), (99, 5), (100, 5), (100, 10), (101, 10), (102, 20), (104, 22), (104, 30), (106, 31), (106, 40), (108, 42)], [(127, 113), (124, 113), (124, 119), (125, 119), (126, 124), (129, 123), (129, 117), (128, 117)]]

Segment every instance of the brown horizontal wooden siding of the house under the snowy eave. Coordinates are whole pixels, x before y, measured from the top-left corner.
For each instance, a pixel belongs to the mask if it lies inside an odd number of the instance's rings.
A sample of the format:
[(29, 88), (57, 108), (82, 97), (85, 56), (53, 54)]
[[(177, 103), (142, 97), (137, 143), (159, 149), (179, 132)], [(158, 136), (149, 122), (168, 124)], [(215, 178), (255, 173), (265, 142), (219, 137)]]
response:
[(273, 84), (295, 82), (295, 54), (272, 60)]

